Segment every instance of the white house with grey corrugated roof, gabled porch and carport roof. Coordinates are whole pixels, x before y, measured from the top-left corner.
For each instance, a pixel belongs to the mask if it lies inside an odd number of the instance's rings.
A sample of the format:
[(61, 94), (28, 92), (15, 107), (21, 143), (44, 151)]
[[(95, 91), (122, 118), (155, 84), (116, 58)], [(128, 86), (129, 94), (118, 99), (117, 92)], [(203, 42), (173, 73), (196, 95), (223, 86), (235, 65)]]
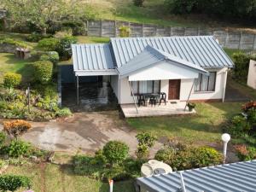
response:
[(137, 108), (143, 94), (166, 93), (167, 101), (183, 106), (224, 101), (228, 69), (234, 66), (212, 36), (110, 38), (108, 44), (73, 44), (72, 49), (77, 85), (80, 76), (104, 76), (127, 116), (143, 110)]

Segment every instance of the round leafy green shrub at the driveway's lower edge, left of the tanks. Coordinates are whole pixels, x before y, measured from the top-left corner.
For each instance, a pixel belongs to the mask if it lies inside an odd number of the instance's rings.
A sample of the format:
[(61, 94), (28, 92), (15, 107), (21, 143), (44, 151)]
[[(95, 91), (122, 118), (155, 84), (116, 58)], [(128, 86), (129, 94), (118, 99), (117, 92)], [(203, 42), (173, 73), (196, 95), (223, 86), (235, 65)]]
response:
[(103, 147), (103, 154), (113, 165), (125, 160), (129, 153), (129, 147), (119, 141), (111, 141)]

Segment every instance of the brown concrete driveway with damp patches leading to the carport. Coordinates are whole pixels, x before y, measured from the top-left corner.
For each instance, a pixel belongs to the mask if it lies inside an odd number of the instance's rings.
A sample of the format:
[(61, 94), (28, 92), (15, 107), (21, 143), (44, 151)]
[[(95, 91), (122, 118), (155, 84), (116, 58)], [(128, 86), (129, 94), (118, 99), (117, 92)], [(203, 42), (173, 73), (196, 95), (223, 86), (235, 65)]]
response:
[[(0, 124), (0, 129), (2, 129)], [(76, 153), (82, 151), (93, 154), (111, 140), (127, 143), (130, 154), (137, 148), (137, 132), (119, 118), (118, 111), (104, 113), (74, 113), (72, 118), (52, 122), (32, 122), (32, 129), (21, 138), (38, 148)], [(156, 143), (152, 148), (154, 156), (161, 146)]]

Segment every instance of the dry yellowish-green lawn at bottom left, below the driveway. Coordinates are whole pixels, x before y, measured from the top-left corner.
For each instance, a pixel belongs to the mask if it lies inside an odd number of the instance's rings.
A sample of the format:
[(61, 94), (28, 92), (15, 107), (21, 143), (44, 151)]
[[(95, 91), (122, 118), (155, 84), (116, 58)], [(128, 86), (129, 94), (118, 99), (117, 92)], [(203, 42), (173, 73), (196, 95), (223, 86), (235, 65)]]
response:
[[(36, 192), (105, 192), (108, 183), (102, 183), (88, 177), (77, 176), (71, 166), (56, 166), (52, 164), (32, 164), (25, 166), (9, 166), (8, 174), (17, 174), (32, 179), (32, 189)], [(19, 191), (23, 191), (20, 189)], [(114, 183), (114, 192), (133, 192), (133, 181)]]

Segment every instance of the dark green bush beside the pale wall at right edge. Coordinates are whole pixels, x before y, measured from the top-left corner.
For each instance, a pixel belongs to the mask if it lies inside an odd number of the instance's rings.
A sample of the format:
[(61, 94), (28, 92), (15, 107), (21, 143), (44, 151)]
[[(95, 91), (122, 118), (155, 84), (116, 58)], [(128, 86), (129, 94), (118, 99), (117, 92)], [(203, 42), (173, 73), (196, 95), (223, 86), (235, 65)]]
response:
[(235, 62), (235, 67), (233, 69), (233, 78), (236, 81), (241, 81), (243, 83), (247, 82), (247, 75), (249, 69), (249, 61), (256, 60), (256, 55), (247, 55), (245, 53), (239, 52), (232, 55)]

